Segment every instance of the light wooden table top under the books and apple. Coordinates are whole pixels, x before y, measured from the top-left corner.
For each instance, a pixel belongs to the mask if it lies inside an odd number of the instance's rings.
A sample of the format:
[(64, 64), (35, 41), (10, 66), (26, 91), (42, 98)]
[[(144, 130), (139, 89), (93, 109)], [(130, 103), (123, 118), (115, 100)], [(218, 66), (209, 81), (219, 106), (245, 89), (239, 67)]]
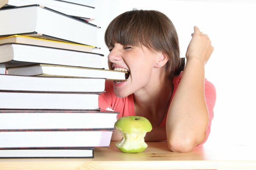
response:
[(202, 146), (189, 153), (173, 153), (166, 142), (148, 142), (143, 153), (95, 148), (93, 159), (0, 159), (0, 170), (256, 170), (256, 147)]

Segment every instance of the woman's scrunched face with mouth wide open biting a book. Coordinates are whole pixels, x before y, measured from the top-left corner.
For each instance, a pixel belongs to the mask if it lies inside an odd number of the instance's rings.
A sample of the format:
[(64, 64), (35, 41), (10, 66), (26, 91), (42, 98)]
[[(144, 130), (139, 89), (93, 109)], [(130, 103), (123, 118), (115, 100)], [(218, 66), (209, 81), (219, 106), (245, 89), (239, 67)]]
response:
[(117, 97), (126, 97), (150, 87), (152, 71), (157, 59), (157, 52), (145, 46), (129, 46), (115, 43), (109, 48), (109, 69), (130, 71), (128, 81), (114, 81), (114, 92)]

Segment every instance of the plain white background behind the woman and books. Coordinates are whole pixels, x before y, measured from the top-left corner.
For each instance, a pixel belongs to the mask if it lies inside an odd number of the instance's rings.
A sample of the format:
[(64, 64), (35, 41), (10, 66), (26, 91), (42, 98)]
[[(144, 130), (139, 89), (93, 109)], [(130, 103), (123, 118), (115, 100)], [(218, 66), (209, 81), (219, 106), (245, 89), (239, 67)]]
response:
[(206, 144), (254, 145), (256, 139), (255, 57), (256, 2), (253, 0), (73, 0), (94, 6), (101, 26), (95, 52), (105, 55), (104, 32), (108, 23), (122, 12), (154, 9), (174, 23), (181, 56), (191, 39), (193, 26), (208, 34), (215, 50), (206, 65), (206, 77), (217, 91), (212, 131)]

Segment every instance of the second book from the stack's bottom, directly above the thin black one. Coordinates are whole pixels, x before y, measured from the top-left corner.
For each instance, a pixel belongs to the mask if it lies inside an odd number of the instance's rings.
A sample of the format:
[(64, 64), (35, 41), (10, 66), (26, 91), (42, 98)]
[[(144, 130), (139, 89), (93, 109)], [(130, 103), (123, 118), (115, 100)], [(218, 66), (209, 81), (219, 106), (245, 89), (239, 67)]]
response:
[(0, 130), (0, 148), (108, 147), (113, 130)]

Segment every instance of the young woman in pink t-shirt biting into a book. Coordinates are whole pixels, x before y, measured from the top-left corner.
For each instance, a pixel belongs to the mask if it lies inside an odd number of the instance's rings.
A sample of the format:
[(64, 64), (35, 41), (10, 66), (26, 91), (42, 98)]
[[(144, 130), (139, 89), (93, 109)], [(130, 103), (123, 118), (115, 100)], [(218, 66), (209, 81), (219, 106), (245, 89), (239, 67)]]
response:
[[(159, 11), (120, 14), (109, 24), (105, 43), (110, 51), (109, 68), (128, 71), (129, 77), (123, 82), (106, 81), (100, 108), (119, 111), (119, 117), (146, 117), (153, 129), (145, 141), (167, 139), (174, 152), (189, 152), (207, 140), (216, 94), (204, 78), (213, 51), (206, 34), (194, 27), (184, 71), (180, 71), (175, 27)], [(113, 141), (121, 138), (113, 133)]]

